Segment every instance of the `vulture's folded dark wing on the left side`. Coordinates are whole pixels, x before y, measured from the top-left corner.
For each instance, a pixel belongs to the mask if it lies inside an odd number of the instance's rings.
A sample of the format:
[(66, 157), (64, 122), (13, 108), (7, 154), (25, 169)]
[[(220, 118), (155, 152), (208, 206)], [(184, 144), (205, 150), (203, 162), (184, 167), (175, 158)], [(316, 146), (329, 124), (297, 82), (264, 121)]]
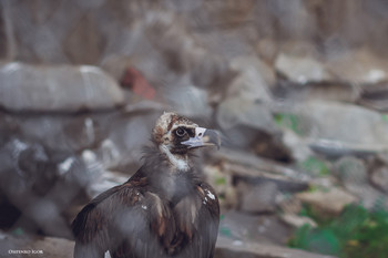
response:
[(130, 234), (142, 233), (146, 221), (139, 207), (142, 195), (132, 182), (113, 187), (91, 200), (75, 217), (74, 257), (103, 257)]

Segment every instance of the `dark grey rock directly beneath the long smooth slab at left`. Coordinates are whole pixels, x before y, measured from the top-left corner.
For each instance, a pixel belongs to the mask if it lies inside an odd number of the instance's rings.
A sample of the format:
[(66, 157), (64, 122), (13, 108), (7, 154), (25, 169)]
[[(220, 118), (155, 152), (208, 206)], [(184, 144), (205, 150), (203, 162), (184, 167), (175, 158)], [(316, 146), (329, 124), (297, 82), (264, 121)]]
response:
[(1, 113), (4, 123), (0, 130), (7, 138), (12, 136), (40, 143), (49, 148), (78, 152), (98, 146), (106, 137), (106, 124), (115, 113), (103, 114), (9, 114)]

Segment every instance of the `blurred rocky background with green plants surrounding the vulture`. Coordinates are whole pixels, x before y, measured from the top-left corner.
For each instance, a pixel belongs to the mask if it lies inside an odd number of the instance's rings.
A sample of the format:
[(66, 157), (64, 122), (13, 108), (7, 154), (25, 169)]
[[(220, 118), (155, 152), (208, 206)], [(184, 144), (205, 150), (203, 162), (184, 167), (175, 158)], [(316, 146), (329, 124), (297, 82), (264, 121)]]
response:
[(223, 134), (217, 258), (387, 257), (387, 31), (385, 0), (1, 0), (0, 257), (72, 257), (169, 110)]

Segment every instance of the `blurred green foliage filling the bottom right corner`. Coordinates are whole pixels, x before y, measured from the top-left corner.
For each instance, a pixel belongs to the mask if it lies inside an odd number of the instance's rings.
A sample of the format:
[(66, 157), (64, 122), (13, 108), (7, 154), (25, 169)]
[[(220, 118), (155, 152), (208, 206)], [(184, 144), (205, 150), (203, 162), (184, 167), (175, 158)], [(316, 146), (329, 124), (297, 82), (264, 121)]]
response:
[(319, 226), (298, 228), (289, 246), (340, 258), (388, 257), (388, 213), (347, 206), (337, 218), (323, 219), (310, 207), (303, 209)]

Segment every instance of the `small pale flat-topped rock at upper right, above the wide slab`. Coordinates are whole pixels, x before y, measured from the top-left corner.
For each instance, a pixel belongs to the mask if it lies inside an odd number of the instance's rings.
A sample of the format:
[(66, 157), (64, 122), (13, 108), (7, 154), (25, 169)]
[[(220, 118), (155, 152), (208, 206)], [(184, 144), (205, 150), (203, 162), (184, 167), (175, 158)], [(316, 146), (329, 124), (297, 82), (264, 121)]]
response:
[(276, 59), (275, 69), (288, 80), (299, 84), (331, 80), (324, 64), (312, 56), (282, 53)]

